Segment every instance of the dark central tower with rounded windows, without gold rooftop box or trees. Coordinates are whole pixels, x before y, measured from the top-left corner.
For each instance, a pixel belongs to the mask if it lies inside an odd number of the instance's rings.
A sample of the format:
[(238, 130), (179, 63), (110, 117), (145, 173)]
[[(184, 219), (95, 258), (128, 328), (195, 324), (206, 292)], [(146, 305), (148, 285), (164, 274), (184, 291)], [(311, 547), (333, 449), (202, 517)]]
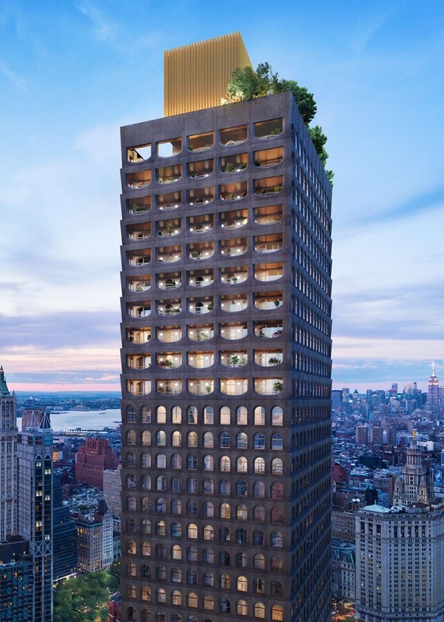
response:
[(331, 185), (289, 93), (121, 128), (122, 618), (330, 620)]

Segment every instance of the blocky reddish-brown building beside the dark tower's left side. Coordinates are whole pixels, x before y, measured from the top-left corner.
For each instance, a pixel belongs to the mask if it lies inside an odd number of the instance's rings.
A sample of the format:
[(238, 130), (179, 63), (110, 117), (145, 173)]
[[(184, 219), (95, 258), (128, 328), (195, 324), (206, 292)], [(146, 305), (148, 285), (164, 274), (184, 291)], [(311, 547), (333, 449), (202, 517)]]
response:
[(85, 439), (76, 453), (76, 484), (103, 490), (103, 471), (115, 469), (117, 459), (108, 439)]

